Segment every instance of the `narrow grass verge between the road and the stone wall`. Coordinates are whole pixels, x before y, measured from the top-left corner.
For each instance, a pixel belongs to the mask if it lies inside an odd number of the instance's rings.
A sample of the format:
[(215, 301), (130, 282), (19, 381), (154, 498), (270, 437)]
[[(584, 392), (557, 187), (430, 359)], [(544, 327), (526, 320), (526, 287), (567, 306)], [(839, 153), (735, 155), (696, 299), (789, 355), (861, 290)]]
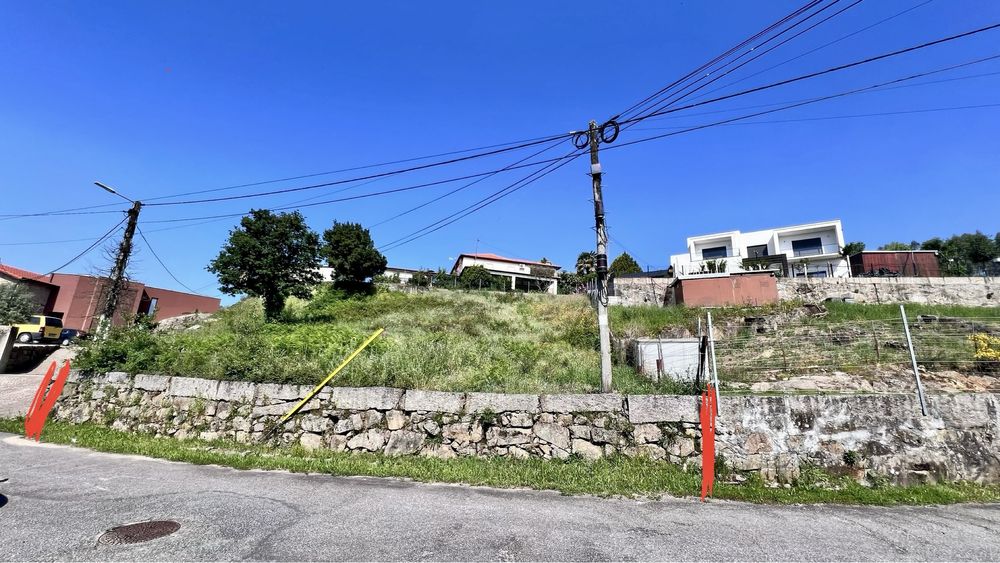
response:
[[(0, 431), (21, 433), (23, 419), (0, 419)], [(299, 473), (396, 477), (423, 482), (465, 483), (498, 488), (555, 490), (564, 494), (599, 496), (693, 497), (701, 478), (675, 465), (646, 459), (616, 457), (597, 462), (506, 458), (387, 457), (376, 454), (307, 452), (302, 448), (271, 448), (226, 441), (174, 440), (118, 432), (92, 424), (49, 422), (46, 442), (74, 444), (102, 452), (143, 455), (200, 465), (236, 469), (282, 469)], [(815, 475), (815, 470), (812, 472)], [(845, 478), (824, 480), (835, 488), (817, 486), (817, 479), (792, 488), (774, 489), (757, 479), (742, 485), (720, 483), (715, 498), (755, 503), (798, 504), (950, 504), (1000, 501), (1000, 487), (973, 484), (882, 486), (866, 488)]]

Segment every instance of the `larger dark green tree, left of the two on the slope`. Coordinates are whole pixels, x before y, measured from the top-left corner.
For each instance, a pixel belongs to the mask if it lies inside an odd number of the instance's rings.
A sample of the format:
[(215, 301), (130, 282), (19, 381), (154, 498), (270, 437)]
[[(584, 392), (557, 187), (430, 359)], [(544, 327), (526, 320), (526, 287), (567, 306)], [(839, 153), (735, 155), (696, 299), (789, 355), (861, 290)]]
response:
[(223, 293), (262, 298), (267, 318), (274, 320), (289, 296), (309, 297), (320, 282), (319, 265), (319, 236), (301, 213), (254, 209), (230, 231), (208, 271), (219, 278)]

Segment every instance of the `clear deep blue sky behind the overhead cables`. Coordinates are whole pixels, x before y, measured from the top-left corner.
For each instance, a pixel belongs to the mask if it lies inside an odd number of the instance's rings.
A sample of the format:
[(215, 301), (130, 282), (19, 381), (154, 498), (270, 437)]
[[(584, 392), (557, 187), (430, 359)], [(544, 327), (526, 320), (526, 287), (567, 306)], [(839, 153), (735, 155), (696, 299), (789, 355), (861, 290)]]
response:
[[(801, 2), (0, 3), (0, 214), (115, 203), (548, 135), (603, 120)], [(849, 2), (844, 0), (829, 12)], [(765, 69), (923, 0), (866, 0), (716, 85)], [(722, 93), (1000, 22), (1000, 3), (934, 0)], [(648, 121), (619, 143), (741, 112), (1000, 54), (1000, 31)], [(1000, 73), (1000, 60), (934, 79)], [(930, 79), (924, 79), (927, 81)], [(922, 82), (921, 81), (921, 82)], [(714, 85), (713, 85), (714, 87)], [(1000, 75), (851, 96), (758, 118), (793, 120), (1000, 104)], [(749, 110), (747, 110), (749, 111)], [(701, 115), (692, 115), (692, 114)], [(643, 129), (643, 130), (639, 130)], [(602, 156), (612, 258), (663, 267), (687, 236), (840, 218), (848, 240), (1000, 230), (1000, 107), (715, 127)], [(546, 156), (556, 156), (558, 147)], [(344, 195), (500, 168), (527, 151), (385, 179)], [(579, 159), (500, 202), (387, 253), (447, 267), (475, 250), (572, 267), (594, 245)], [(362, 171), (364, 172), (364, 171)], [(358, 174), (355, 172), (353, 174)], [(406, 235), (523, 175), (505, 173), (373, 228)], [(352, 173), (221, 195), (291, 187)], [(374, 224), (459, 184), (304, 209)], [(215, 293), (208, 261), (238, 221), (153, 221), (287, 205), (280, 197), (149, 207), (140, 225), (181, 281)], [(0, 221), (0, 261), (45, 272), (113, 214)], [(140, 242), (140, 247), (142, 247)], [(66, 268), (87, 272), (100, 253)], [(145, 248), (146, 283), (178, 288)]]

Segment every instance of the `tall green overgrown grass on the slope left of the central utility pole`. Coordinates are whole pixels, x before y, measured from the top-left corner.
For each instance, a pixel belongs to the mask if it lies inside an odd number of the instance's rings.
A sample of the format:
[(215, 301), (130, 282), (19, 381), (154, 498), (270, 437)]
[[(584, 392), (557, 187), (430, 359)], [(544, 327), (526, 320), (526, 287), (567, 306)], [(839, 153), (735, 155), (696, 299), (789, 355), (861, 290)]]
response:
[[(595, 392), (600, 388), (597, 326), (584, 298), (519, 293), (379, 291), (348, 296), (324, 285), (310, 300), (290, 299), (280, 322), (266, 322), (247, 299), (193, 331), (116, 328), (87, 343), (76, 365), (217, 379), (314, 384), (377, 328), (385, 335), (334, 380), (447, 391)], [(670, 392), (627, 366), (615, 368), (623, 393)]]

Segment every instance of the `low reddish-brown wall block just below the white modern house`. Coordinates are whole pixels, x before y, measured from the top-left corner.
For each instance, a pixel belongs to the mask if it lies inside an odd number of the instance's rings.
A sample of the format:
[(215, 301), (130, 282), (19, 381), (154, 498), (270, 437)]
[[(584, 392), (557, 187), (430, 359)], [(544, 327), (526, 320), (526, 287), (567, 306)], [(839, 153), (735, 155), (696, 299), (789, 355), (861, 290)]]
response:
[(674, 298), (689, 307), (765, 305), (778, 302), (778, 284), (771, 274), (688, 278), (677, 281)]

